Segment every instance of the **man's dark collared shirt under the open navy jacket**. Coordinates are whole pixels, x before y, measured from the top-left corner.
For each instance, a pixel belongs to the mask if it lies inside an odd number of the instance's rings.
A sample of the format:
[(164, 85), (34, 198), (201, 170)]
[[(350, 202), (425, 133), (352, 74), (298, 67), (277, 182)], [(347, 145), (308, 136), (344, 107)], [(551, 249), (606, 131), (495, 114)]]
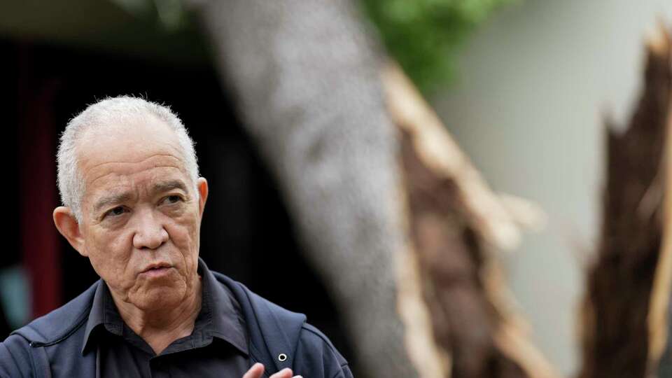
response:
[(157, 355), (119, 315), (106, 284), (98, 286), (82, 353), (95, 349), (100, 377), (242, 377), (249, 369), (248, 335), (239, 303), (217, 285), (199, 259), (201, 310), (191, 335)]

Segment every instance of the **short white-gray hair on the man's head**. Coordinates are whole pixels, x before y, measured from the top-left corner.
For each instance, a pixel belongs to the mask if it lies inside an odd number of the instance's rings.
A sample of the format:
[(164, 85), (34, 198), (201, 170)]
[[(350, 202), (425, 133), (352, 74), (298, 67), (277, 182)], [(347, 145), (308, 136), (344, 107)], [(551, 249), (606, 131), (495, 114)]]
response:
[(185, 157), (185, 169), (196, 186), (198, 163), (194, 141), (182, 124), (180, 118), (168, 106), (149, 102), (131, 96), (108, 97), (87, 106), (84, 111), (72, 118), (61, 134), (58, 146), (58, 190), (61, 202), (69, 207), (78, 223), (82, 221), (82, 201), (85, 187), (77, 156), (77, 143), (84, 130), (114, 125), (134, 117), (155, 116), (171, 127), (177, 135)]

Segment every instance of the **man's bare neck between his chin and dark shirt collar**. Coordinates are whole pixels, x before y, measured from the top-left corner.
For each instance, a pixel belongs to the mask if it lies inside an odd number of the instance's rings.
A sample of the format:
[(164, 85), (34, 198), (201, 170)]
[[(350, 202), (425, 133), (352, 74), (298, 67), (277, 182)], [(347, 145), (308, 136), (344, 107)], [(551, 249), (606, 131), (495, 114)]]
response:
[(191, 335), (196, 318), (201, 310), (202, 284), (200, 277), (194, 283), (194, 290), (177, 306), (170, 309), (145, 311), (129, 302), (118, 300), (114, 303), (124, 323), (142, 337), (156, 354), (160, 354), (176, 339)]

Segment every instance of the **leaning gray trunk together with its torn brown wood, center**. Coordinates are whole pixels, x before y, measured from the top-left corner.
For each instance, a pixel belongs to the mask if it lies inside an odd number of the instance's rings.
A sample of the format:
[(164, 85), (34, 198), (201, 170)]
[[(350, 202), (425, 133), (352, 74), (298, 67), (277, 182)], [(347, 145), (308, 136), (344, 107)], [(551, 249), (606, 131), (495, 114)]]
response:
[(491, 193), (405, 79), (386, 97), (354, 4), (192, 2), (367, 376), (554, 377), (493, 255), (538, 211)]

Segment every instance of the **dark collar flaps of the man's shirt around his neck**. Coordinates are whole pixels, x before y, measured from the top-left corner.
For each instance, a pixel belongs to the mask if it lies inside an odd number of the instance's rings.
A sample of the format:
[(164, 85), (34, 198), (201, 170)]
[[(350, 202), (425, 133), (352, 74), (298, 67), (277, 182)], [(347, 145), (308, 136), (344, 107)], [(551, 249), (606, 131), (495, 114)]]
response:
[[(217, 337), (248, 355), (246, 326), (239, 303), (226, 286), (218, 283), (202, 258), (198, 258), (198, 272), (201, 276), (202, 302), (193, 335), (198, 332), (201, 337)], [(82, 354), (92, 344), (92, 339), (95, 338), (92, 332), (99, 326), (103, 326), (114, 335), (123, 334), (123, 319), (119, 315), (107, 284), (102, 279), (98, 283), (89, 311)]]

